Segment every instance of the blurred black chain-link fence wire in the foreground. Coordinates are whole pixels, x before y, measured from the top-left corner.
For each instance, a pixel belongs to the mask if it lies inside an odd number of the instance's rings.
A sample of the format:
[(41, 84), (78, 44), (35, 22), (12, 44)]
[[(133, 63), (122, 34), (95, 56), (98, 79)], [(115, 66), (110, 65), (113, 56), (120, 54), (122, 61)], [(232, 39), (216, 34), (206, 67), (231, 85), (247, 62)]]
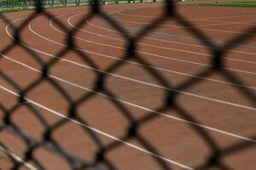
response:
[[(135, 139), (139, 144), (143, 146), (145, 150), (148, 151), (148, 154), (159, 165), (160, 169), (172, 169), (172, 167), (170, 167), (170, 164), (161, 157), (161, 153), (159, 153), (155, 146), (153, 144), (150, 144), (150, 141), (148, 141), (147, 139), (144, 139), (143, 135), (138, 131), (138, 129), (142, 125), (148, 122), (154, 122), (154, 120), (158, 116), (160, 116), (160, 114), (156, 113), (165, 111), (177, 111), (179, 116), (181, 116), (183, 120), (185, 120), (185, 122), (188, 123), (189, 126), (195, 130), (195, 133), (198, 133), (201, 136), (201, 140), (207, 143), (208, 148), (211, 149), (211, 155), (205, 159), (202, 165), (200, 165), (199, 167), (193, 167), (195, 169), (210, 169), (212, 167), (217, 167), (219, 169), (230, 169), (230, 167), (225, 165), (223, 161), (225, 156), (230, 156), (241, 150), (246, 150), (253, 147), (253, 144), (255, 144), (254, 142), (241, 141), (236, 144), (232, 144), (224, 149), (220, 149), (218, 147), (217, 141), (213, 139), (213, 137), (210, 135), (210, 133), (207, 132), (205, 128), (199, 125), (200, 122), (198, 122), (196, 118), (191, 113), (189, 113), (189, 111), (183, 109), (181, 105), (177, 105), (176, 100), (177, 96), (181, 94), (180, 92), (196, 86), (199, 82), (202, 82), (203, 79), (191, 77), (187, 81), (180, 84), (178, 87), (173, 87), (172, 84), (170, 84), (170, 82), (167, 82), (166, 78), (163, 77), (160, 72), (154, 70), (153, 67), (143, 67), (143, 69), (147, 71), (152, 77), (154, 77), (160, 83), (160, 85), (166, 87), (166, 97), (165, 100), (162, 102), (162, 105), (154, 109), (154, 111), (148, 111), (148, 113), (151, 114), (146, 114), (145, 116), (140, 118), (135, 118), (134, 116), (132, 116), (131, 111), (126, 108), (126, 105), (118, 100), (118, 96), (113, 94), (113, 92), (107, 88), (106, 80), (110, 76), (109, 73), (113, 73), (117, 71), (120, 67), (123, 67), (126, 64), (125, 60), (133, 59), (141, 65), (150, 65), (146, 59), (143, 59), (143, 57), (141, 57), (137, 53), (137, 42), (139, 42), (143, 37), (147, 36), (148, 33), (157, 29), (160, 24), (162, 24), (166, 20), (176, 20), (180, 26), (183, 26), (195, 37), (199, 37), (205, 40), (203, 41), (203, 43), (212, 54), (212, 66), (204, 71), (201, 71), (197, 75), (198, 77), (210, 77), (214, 73), (219, 73), (232, 83), (240, 85), (245, 84), (244, 82), (241, 82), (241, 80), (233, 75), (230, 71), (224, 69), (224, 56), (228, 53), (230, 49), (236, 48), (238, 44), (246, 42), (250, 38), (252, 38), (252, 36), (250, 35), (256, 33), (256, 26), (252, 26), (247, 29), (248, 34), (243, 34), (240, 37), (234, 37), (230, 42), (218, 45), (213, 43), (211, 39), (209, 39), (201, 30), (199, 30), (198, 28), (196, 28), (196, 26), (189, 22), (189, 20), (186, 20), (185, 18), (183, 18), (183, 16), (177, 14), (176, 7), (177, 4), (172, 0), (166, 1), (164, 7), (162, 8), (162, 15), (160, 15), (159, 18), (153, 20), (150, 25), (145, 26), (141, 31), (138, 31), (135, 36), (131, 36), (124, 27), (119, 25), (119, 22), (113, 20), (113, 18), (108, 14), (103, 13), (101, 5), (97, 1), (92, 1), (90, 5), (90, 13), (86, 15), (88, 20), (92, 20), (96, 17), (101, 17), (102, 19), (106, 20), (110, 26), (113, 26), (116, 31), (119, 31), (120, 35), (122, 35), (126, 42), (126, 51), (124, 56), (118, 61), (114, 62), (105, 70), (100, 70), (96, 63), (92, 59), (90, 59), (89, 54), (82, 53), (77, 50), (73, 35), (75, 35), (79, 31), (79, 29), (67, 28), (67, 26), (61, 23), (60, 20), (54, 20), (54, 23), (55, 25), (61, 27), (63, 31), (67, 32), (67, 47), (62, 48), (59, 53), (55, 54), (55, 58), (50, 59), (49, 62), (44, 62), (42, 59), (40, 59), (37, 53), (33, 52), (32, 49), (27, 48), (26, 45), (24, 45), (25, 42), (23, 42), (20, 34), (22, 31), (24, 31), (24, 29), (31, 20), (35, 19), (39, 15), (43, 15), (49, 20), (55, 18), (53, 14), (50, 14), (44, 9), (44, 3), (42, 1), (36, 2), (36, 10), (32, 12), (32, 14), (29, 14), (26, 20), (24, 20), (19, 27), (15, 27), (7, 16), (1, 14), (0, 17), (3, 22), (8, 24), (14, 32), (14, 41), (11, 42), (6, 48), (1, 50), (2, 57), (0, 59), (3, 59), (4, 54), (8, 54), (14, 48), (20, 47), (23, 48), (28, 54), (30, 54), (32, 59), (34, 59), (38, 62), (39, 65), (41, 65), (41, 71), (38, 72), (40, 77), (38, 77), (38, 79), (36, 79), (35, 81), (30, 82), (30, 84), (27, 85), (26, 88), (20, 88), (19, 82), (16, 82), (5, 72), (0, 70), (1, 79), (9, 83), (9, 85), (16, 90), (16, 93), (11, 91), (9, 91), (9, 93), (14, 94), (17, 97), (17, 102), (10, 109), (7, 109), (7, 107), (3, 105), (3, 103), (0, 103), (1, 114), (3, 114), (3, 120), (0, 124), (0, 133), (4, 132), (15, 135), (26, 144), (26, 152), (24, 152), (24, 156), (22, 160), (20, 160), (15, 157), (15, 155), (10, 151), (11, 148), (8, 148), (7, 145), (3, 144), (3, 142), (0, 140), (0, 149), (3, 151), (4, 154), (9, 156), (9, 160), (13, 163), (12, 169), (20, 169), (24, 166), (33, 169), (33, 167), (30, 167), (30, 164), (26, 163), (28, 161), (32, 162), (32, 164), (35, 165), (35, 167), (38, 169), (45, 169), (44, 165), (40, 162), (40, 159), (34, 156), (34, 153), (38, 149), (42, 148), (51, 153), (54, 153), (56, 156), (64, 158), (70, 166), (68, 167), (70, 169), (121, 169), (121, 167), (116, 167), (106, 155), (112, 150), (121, 147), (123, 144), (128, 144), (129, 141), (131, 141), (132, 139)], [(84, 20), (80, 20), (75, 28), (80, 28), (85, 25), (86, 22)], [(56, 63), (61, 59), (62, 56), (69, 52), (73, 52), (77, 54), (80, 59), (83, 59), (86, 65), (90, 65), (90, 67), (93, 68), (94, 74), (96, 75), (94, 89), (88, 90), (87, 93), (84, 93), (79, 97), (79, 99), (76, 100), (72, 99), (67, 91), (61, 87), (61, 85), (56, 81), (55, 77), (49, 75), (49, 70), (56, 65)], [(49, 124), (49, 122), (47, 122), (44, 117), (41, 116), (40, 111), (38, 110), (38, 103), (35, 103), (32, 100), (26, 98), (26, 94), (31, 92), (32, 89), (37, 88), (43, 82), (48, 82), (49, 84), (51, 84), (55, 88), (55, 90), (62, 95), (63, 99), (67, 100), (69, 104), (69, 110), (67, 111), (68, 116), (62, 116), (61, 120), (55, 122), (54, 124)], [(237, 91), (240, 91), (242, 94), (244, 94), (253, 105), (256, 105), (256, 96), (250, 89), (245, 88), (244, 86), (236, 86), (236, 89)], [(79, 116), (77, 111), (79, 105), (87, 102), (89, 99), (93, 98), (97, 94), (103, 94), (104, 96), (106, 96), (108, 100), (112, 103), (112, 105), (114, 105), (119, 110), (120, 114), (125, 117), (130, 125), (127, 129), (125, 129), (126, 133), (124, 136), (119, 137), (119, 139), (114, 139), (113, 142), (107, 145), (103, 144), (102, 139), (99, 138), (99, 135), (102, 135), (102, 133), (99, 133), (96, 131), (95, 128), (90, 127), (90, 122), (87, 122), (87, 120), (84, 120), (84, 118)], [(12, 117), (15, 115), (15, 111), (19, 110), (20, 107), (24, 106), (26, 106), (27, 110), (32, 113), (32, 116), (35, 116), (41, 123), (41, 125), (44, 126), (42, 140), (34, 139), (31, 136), (27, 136), (26, 132), (23, 132), (20, 127), (17, 126), (15, 122), (13, 122)], [(52, 137), (53, 133), (55, 133), (57, 129), (63, 127), (68, 122), (76, 122), (81, 125), (81, 127), (83, 127), (84, 129), (84, 132), (88, 133), (90, 135), (90, 138), (93, 139), (98, 150), (95, 154), (94, 161), (87, 161), (86, 157), (74, 156), (67, 149), (61, 147), (60, 142), (56, 141)], [(256, 134), (250, 137), (250, 139), (255, 141)], [(102, 167), (102, 165), (104, 166)]]

